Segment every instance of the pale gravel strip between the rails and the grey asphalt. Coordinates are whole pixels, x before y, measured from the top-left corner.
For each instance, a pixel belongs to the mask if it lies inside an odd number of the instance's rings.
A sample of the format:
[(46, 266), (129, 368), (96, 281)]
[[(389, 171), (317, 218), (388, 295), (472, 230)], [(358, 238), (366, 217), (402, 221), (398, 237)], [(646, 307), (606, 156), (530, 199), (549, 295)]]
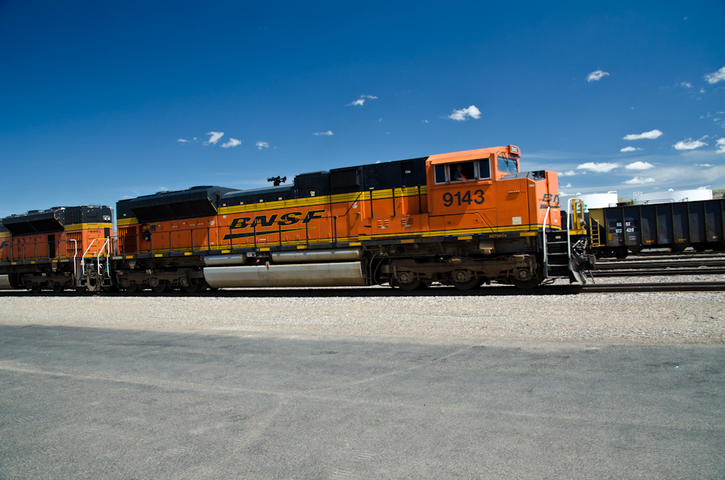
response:
[(725, 293), (0, 297), (0, 324), (417, 339), (725, 343)]

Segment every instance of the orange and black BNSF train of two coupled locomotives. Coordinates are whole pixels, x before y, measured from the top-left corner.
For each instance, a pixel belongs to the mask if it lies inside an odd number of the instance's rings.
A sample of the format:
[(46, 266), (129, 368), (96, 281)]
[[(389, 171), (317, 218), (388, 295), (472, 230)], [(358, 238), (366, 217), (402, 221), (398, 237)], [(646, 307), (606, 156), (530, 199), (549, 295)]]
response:
[(263, 189), (162, 191), (117, 202), (117, 231), (109, 207), (13, 215), (0, 229), (0, 288), (581, 282), (586, 231), (562, 225), (557, 173), (521, 172), (520, 154), (509, 145), (305, 173), (291, 185), (270, 179)]

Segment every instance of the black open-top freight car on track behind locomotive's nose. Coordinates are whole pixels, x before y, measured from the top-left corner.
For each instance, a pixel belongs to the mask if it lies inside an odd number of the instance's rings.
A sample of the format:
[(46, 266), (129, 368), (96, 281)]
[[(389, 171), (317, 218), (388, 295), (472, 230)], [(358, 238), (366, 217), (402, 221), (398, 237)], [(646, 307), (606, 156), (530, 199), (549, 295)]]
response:
[(725, 250), (725, 200), (631, 204), (589, 210), (597, 257), (625, 258), (643, 249)]

